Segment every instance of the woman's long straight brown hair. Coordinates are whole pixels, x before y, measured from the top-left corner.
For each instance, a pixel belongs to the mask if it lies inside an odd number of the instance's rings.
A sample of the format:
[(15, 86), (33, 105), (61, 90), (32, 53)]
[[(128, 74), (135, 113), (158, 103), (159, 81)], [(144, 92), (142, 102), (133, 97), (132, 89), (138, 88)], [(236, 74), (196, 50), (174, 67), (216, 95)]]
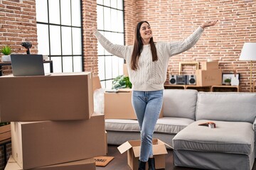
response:
[[(141, 35), (139, 33), (139, 30), (142, 26), (142, 23), (149, 24), (147, 21), (141, 21), (141, 22), (137, 23), (137, 26), (134, 30), (134, 48), (133, 48), (133, 51), (132, 51), (132, 59), (131, 59), (132, 70), (137, 70), (138, 69), (139, 56), (141, 55), (142, 50), (143, 50), (143, 42), (142, 42)], [(153, 37), (150, 38), (149, 44), (150, 44), (150, 48), (151, 48), (152, 61), (153, 62), (157, 61), (158, 57), (157, 57), (157, 54), (156, 54), (156, 46), (154, 44)]]

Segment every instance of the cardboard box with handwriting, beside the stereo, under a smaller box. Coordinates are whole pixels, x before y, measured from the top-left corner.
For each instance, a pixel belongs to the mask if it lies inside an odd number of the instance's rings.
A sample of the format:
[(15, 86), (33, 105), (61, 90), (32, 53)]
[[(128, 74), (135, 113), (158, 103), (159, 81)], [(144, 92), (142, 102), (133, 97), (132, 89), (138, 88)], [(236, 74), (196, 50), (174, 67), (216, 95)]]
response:
[(222, 85), (221, 69), (197, 69), (196, 86), (218, 86)]

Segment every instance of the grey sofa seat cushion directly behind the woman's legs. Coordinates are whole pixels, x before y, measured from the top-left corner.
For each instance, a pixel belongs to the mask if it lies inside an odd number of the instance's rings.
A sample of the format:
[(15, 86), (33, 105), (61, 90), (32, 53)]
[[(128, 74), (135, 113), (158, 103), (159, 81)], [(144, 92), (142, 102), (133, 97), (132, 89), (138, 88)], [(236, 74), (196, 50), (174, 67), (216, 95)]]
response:
[[(193, 122), (194, 120), (188, 118), (159, 118), (154, 132), (176, 134)], [(137, 120), (106, 119), (105, 129), (111, 131), (140, 132)]]

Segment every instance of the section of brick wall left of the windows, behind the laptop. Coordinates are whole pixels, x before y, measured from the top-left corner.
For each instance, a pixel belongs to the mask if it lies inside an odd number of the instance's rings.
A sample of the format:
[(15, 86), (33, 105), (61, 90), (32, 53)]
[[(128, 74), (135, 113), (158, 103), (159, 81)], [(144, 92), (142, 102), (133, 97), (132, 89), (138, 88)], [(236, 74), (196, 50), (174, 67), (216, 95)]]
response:
[[(24, 53), (21, 42), (32, 43), (31, 54), (36, 54), (36, 1), (35, 0), (0, 0), (0, 47), (9, 45), (13, 53)], [(11, 72), (11, 67), (4, 67), (4, 74)]]

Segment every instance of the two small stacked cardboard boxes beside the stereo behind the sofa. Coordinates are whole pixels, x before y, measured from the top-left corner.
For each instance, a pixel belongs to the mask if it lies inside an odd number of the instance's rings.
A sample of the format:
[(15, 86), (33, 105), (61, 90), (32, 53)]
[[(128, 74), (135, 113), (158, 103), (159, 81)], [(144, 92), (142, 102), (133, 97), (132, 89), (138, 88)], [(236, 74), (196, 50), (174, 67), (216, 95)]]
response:
[(201, 69), (196, 69), (196, 86), (218, 86), (222, 84), (222, 71), (218, 61), (201, 62)]

